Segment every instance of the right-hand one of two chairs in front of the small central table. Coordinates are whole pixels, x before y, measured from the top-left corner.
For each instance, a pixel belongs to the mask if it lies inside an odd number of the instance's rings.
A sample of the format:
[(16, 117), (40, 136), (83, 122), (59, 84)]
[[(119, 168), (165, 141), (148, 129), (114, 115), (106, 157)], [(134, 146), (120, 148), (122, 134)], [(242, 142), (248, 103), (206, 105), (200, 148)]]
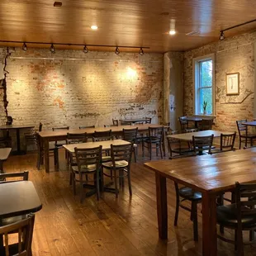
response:
[[(129, 145), (111, 145), (111, 162), (102, 163), (103, 167), (103, 175), (102, 175), (102, 183), (103, 176), (111, 177), (112, 172), (114, 173), (114, 183), (115, 183), (115, 193), (116, 198), (118, 197), (118, 187), (117, 187), (117, 178), (119, 178), (119, 185), (124, 188), (124, 178), (127, 176), (128, 185), (129, 185), (129, 193), (132, 195), (131, 191), (131, 183), (130, 183), (130, 162), (131, 162), (131, 154), (133, 151), (133, 144)], [(111, 174), (105, 173), (104, 168), (111, 170)], [(118, 173), (117, 173), (118, 172)]]

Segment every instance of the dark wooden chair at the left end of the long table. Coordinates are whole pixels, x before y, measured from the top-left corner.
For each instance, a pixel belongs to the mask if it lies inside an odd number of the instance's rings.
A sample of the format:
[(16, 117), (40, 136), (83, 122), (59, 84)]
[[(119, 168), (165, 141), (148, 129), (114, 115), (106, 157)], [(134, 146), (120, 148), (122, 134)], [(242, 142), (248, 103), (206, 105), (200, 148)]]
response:
[[(44, 145), (42, 145), (40, 141), (40, 136), (38, 133), (36, 133), (36, 148), (37, 148), (37, 161), (36, 161), (36, 168), (40, 170), (40, 165), (44, 164), (44, 156), (45, 156), (45, 150)], [(55, 160), (55, 166), (59, 168), (59, 151), (58, 148), (49, 147), (50, 156), (54, 156)]]

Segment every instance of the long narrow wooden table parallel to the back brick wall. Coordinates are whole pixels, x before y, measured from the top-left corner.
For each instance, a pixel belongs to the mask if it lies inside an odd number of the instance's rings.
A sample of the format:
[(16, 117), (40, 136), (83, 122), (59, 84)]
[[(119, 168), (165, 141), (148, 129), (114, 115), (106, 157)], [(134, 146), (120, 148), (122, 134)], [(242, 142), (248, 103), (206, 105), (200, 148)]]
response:
[[(86, 132), (88, 135), (93, 135), (94, 131), (104, 131), (104, 130), (112, 130), (113, 135), (121, 135), (123, 129), (135, 129), (138, 127), (140, 132), (145, 132), (150, 127), (163, 127), (160, 125), (154, 124), (144, 124), (144, 125), (134, 125), (134, 126), (111, 126), (111, 127), (96, 127), (96, 128), (85, 128), (85, 129), (70, 129), (70, 130), (45, 130), (40, 131), (40, 140), (41, 143), (44, 145), (45, 151), (45, 172), (49, 173), (49, 142), (56, 141), (56, 140), (66, 140), (67, 133), (84, 133)], [(165, 151), (164, 151), (165, 153)]]

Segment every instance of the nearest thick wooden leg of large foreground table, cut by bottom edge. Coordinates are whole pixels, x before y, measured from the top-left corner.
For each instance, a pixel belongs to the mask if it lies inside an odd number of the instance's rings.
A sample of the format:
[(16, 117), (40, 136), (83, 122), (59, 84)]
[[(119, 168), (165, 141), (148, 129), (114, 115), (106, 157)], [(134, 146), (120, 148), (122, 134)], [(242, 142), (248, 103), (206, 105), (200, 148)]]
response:
[(217, 255), (216, 195), (202, 193), (202, 255)]

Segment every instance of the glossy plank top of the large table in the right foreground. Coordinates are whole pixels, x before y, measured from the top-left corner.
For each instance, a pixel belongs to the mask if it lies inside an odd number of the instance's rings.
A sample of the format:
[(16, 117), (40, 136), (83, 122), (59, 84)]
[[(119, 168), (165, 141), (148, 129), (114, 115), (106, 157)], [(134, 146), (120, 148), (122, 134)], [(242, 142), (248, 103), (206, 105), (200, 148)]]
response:
[(235, 182), (256, 183), (256, 148), (145, 163), (145, 167), (199, 192), (221, 192)]

